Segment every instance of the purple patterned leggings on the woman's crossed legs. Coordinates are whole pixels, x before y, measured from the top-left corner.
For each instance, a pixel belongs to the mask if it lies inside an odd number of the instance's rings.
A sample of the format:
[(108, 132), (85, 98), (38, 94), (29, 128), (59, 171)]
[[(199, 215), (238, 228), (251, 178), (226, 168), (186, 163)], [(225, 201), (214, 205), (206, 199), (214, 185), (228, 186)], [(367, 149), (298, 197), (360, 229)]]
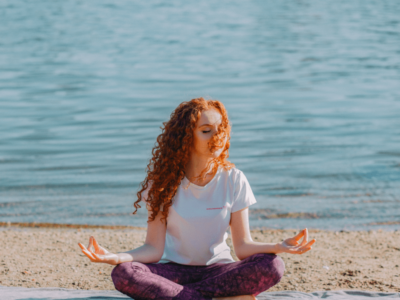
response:
[(243, 260), (210, 265), (175, 262), (123, 262), (111, 272), (115, 288), (135, 300), (205, 300), (267, 290), (283, 275), (283, 260), (254, 254)]

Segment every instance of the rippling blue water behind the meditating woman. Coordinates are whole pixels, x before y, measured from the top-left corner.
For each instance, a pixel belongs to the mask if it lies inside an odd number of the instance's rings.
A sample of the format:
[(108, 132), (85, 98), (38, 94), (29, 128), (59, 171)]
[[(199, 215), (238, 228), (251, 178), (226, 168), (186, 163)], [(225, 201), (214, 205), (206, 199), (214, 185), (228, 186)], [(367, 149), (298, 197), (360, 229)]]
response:
[(252, 227), (400, 228), (398, 1), (0, 2), (0, 221), (125, 224), (162, 121), (224, 102)]

